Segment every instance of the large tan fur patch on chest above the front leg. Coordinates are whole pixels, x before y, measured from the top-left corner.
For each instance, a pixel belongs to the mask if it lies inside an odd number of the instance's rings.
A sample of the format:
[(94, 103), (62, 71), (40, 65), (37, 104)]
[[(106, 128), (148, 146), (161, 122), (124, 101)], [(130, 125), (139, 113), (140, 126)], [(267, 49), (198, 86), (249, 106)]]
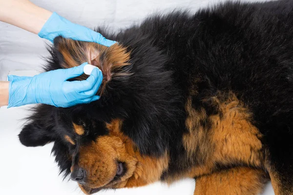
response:
[[(251, 114), (236, 96), (233, 93), (219, 94), (205, 101), (209, 101), (220, 114), (207, 116), (204, 110), (195, 110), (191, 97), (186, 103), (188, 133), (183, 136), (183, 144), (188, 158), (197, 160), (199, 165), (167, 178), (167, 182), (210, 174), (216, 163), (245, 163), (256, 167), (264, 163), (259, 140), (262, 135), (251, 124)], [(209, 122), (208, 127), (201, 124), (203, 121)]]

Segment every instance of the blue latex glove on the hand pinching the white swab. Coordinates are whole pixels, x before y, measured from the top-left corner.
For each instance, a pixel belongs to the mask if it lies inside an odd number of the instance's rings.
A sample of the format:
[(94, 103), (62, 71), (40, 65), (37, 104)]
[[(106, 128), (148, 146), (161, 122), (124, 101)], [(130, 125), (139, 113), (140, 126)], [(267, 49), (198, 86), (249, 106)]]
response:
[(84, 73), (84, 66), (59, 69), (36, 75), (18, 77), (10, 75), (9, 107), (43, 103), (56, 107), (70, 107), (98, 100), (95, 96), (103, 80), (103, 74), (94, 68), (86, 80), (67, 81)]

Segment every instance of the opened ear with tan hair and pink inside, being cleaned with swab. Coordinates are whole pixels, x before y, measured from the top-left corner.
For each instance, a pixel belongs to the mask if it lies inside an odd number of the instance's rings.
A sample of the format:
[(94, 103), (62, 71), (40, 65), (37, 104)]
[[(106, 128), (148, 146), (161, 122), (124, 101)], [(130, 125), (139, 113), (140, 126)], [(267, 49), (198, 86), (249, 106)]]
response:
[[(106, 47), (94, 42), (57, 37), (54, 39), (54, 49), (62, 68), (72, 68), (84, 62), (97, 66), (103, 73), (101, 93), (109, 80), (127, 74), (122, 67), (129, 64), (130, 52), (118, 43)], [(87, 77), (84, 74), (77, 79)]]

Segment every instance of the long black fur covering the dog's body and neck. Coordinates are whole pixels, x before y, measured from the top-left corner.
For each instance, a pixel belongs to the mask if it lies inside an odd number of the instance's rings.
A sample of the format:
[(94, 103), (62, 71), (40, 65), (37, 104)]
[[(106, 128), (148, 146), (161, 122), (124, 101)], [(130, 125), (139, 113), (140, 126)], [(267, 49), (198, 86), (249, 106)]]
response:
[[(228, 2), (193, 15), (155, 15), (116, 35), (97, 31), (131, 50), (131, 65), (125, 69), (133, 74), (112, 79), (96, 102), (72, 108), (41, 105), (20, 134), (24, 145), (57, 140), (56, 134), (68, 132), (70, 122), (81, 116), (97, 122), (119, 117), (125, 120), (123, 132), (142, 154), (170, 152), (172, 174), (188, 168), (182, 136), (190, 89), (198, 91), (193, 107), (205, 108), (208, 114), (217, 108), (203, 99), (232, 91), (253, 113), (272, 167), (284, 188), (293, 192), (292, 0)], [(61, 68), (58, 52), (54, 47), (50, 52), (46, 71)], [(209, 121), (203, 123), (209, 126)], [(100, 129), (106, 134), (105, 127)], [(61, 157), (65, 151), (57, 143), (56, 160), (68, 171), (70, 163)]]

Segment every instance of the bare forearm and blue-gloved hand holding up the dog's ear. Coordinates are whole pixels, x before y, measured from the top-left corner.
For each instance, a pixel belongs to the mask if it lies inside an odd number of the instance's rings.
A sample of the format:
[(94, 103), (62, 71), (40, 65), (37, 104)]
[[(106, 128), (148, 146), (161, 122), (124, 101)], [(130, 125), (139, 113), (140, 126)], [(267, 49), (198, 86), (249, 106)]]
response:
[(0, 0), (0, 21), (38, 34), (41, 38), (51, 42), (56, 37), (62, 36), (74, 40), (96, 42), (105, 46), (116, 43), (116, 41), (105, 39), (100, 33), (72, 23), (29, 0)]

